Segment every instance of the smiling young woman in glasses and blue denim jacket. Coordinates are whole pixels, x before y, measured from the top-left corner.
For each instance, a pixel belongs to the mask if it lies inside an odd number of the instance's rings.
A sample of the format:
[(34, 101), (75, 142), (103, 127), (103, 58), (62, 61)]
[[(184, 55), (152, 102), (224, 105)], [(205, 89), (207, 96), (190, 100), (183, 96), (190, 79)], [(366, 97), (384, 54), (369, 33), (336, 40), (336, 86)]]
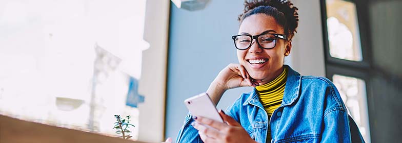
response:
[(207, 93), (216, 105), (228, 89), (255, 88), (219, 111), (225, 123), (188, 114), (177, 142), (363, 141), (330, 80), (283, 64), (298, 21), (291, 2), (246, 1), (238, 20), (239, 63), (220, 71)]

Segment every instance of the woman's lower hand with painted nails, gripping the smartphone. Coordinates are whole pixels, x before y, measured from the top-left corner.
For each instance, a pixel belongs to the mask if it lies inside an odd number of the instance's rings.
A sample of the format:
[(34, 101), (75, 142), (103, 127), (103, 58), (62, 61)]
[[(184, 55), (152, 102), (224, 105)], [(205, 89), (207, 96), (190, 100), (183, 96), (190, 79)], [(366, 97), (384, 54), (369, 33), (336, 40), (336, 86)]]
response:
[(231, 116), (226, 115), (222, 110), (219, 114), (226, 124), (205, 117), (194, 117), (195, 122), (191, 125), (198, 130), (204, 142), (255, 142), (242, 125)]

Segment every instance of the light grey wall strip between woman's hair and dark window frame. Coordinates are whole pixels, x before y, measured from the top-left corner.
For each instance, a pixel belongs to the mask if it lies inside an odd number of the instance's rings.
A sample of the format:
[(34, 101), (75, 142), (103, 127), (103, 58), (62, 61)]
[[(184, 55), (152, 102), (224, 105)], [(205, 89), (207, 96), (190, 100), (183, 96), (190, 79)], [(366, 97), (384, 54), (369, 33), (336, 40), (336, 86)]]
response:
[(319, 1), (295, 0), (299, 25), (292, 42), (290, 64), (301, 75), (325, 77), (325, 59)]

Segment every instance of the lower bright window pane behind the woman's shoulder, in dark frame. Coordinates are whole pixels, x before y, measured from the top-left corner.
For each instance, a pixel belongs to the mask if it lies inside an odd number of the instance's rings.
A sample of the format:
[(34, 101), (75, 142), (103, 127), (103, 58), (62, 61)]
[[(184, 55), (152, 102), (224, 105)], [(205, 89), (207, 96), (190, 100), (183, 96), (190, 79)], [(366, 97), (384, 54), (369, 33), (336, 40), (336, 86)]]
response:
[(363, 138), (370, 142), (369, 115), (367, 109), (366, 83), (364, 80), (334, 75), (333, 82), (353, 117)]

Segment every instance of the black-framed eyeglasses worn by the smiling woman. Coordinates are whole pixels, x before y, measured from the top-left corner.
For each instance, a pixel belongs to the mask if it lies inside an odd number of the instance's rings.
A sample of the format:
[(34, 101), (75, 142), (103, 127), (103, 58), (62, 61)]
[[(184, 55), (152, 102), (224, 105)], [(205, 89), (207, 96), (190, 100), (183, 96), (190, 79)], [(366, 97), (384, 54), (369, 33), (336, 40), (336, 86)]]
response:
[(288, 40), (286, 35), (283, 34), (260, 34), (260, 35), (247, 35), (247, 34), (240, 34), (232, 36), (234, 41), (234, 45), (238, 50), (246, 50), (248, 49), (254, 42), (253, 39), (257, 41), (257, 44), (262, 47), (263, 49), (272, 49), (276, 45), (276, 40), (284, 39)]

